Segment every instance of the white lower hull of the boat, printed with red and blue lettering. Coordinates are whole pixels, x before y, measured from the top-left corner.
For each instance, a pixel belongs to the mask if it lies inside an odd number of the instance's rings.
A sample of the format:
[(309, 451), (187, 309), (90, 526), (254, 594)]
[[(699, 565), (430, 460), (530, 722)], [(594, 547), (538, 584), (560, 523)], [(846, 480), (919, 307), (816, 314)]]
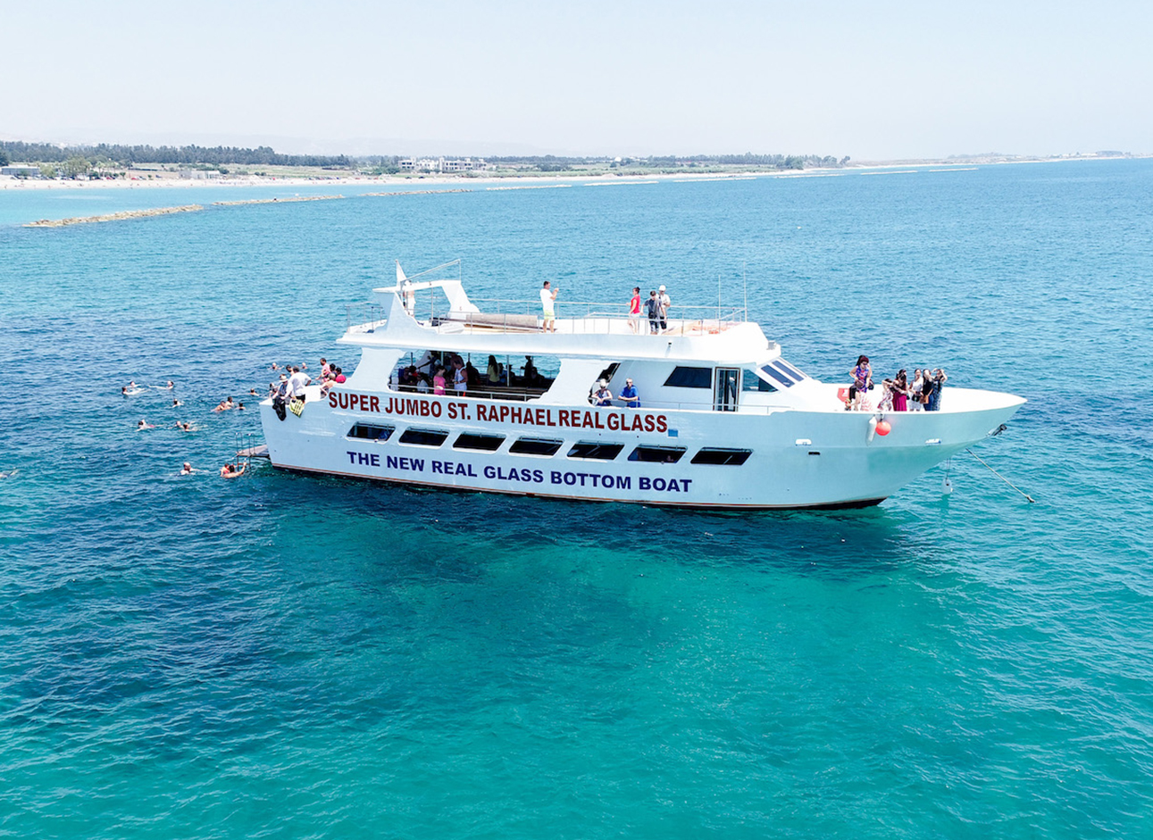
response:
[[(926, 470), (984, 439), (1024, 402), (1011, 394), (951, 388), (955, 410), (721, 413), (536, 406), (390, 392), (333, 393), (280, 421), (261, 406), (272, 463), (286, 470), (414, 486), (586, 501), (713, 509), (876, 505)], [(386, 429), (386, 440), (354, 427)], [(883, 429), (883, 427), (882, 427)], [(405, 432), (446, 433), (436, 446)], [(500, 438), (462, 449), (459, 436)], [(517, 454), (521, 439), (559, 442), (551, 455)], [(576, 457), (578, 445), (617, 445), (611, 460)], [(636, 447), (668, 462), (630, 460)], [(701, 463), (700, 451), (747, 452), (744, 462)], [(678, 449), (683, 452), (677, 453)], [(694, 462), (695, 461), (695, 462)]]

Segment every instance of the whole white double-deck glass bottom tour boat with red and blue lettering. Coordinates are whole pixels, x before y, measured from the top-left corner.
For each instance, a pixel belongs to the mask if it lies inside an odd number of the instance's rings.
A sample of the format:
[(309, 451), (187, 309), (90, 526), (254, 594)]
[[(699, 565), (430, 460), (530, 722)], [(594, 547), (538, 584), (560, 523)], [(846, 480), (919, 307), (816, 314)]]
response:
[[(556, 332), (542, 332), (540, 301), (474, 302), (459, 279), (420, 280), (428, 273), (405, 278), (398, 265), (397, 283), (349, 318), (338, 343), (361, 360), (347, 381), (310, 385), (284, 419), (261, 403), (276, 467), (677, 507), (864, 507), (1025, 402), (947, 386), (936, 411), (846, 410), (843, 386), (785, 361), (743, 310), (673, 305), (653, 334), (625, 307), (562, 297)], [(451, 370), (443, 395), (424, 379), (401, 384), (409, 365), (431, 378), (453, 354), (480, 372), (465, 394)], [(495, 381), (483, 376), (490, 356), (503, 366)], [(536, 376), (514, 370), (526, 357)], [(601, 379), (615, 396), (632, 379), (636, 400), (593, 404)]]

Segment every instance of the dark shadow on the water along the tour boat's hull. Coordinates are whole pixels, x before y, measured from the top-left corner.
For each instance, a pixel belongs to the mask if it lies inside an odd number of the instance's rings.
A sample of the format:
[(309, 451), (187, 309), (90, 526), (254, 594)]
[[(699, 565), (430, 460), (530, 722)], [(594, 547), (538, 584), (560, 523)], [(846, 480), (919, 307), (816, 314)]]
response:
[[(837, 510), (719, 512), (452, 491), (262, 470), (273, 509), (310, 508), (355, 522), (368, 555), (482, 561), (492, 554), (610, 551), (631, 562), (764, 566), (873, 576), (930, 561), (924, 522), (883, 506)], [(948, 501), (939, 502), (947, 509)], [(944, 510), (942, 510), (943, 513)], [(419, 535), (419, 536), (415, 536)]]

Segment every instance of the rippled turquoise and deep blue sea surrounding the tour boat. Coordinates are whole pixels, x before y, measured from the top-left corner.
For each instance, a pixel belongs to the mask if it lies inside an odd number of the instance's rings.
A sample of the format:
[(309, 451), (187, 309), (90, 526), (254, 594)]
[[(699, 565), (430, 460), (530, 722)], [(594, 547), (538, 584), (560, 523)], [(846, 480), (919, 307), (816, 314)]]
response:
[[(0, 190), (0, 838), (1153, 837), (1153, 160), (472, 187)], [(1037, 501), (216, 476), (259, 426), (212, 406), (457, 257), (562, 316), (747, 280), (814, 376), (1018, 393), (975, 452)]]

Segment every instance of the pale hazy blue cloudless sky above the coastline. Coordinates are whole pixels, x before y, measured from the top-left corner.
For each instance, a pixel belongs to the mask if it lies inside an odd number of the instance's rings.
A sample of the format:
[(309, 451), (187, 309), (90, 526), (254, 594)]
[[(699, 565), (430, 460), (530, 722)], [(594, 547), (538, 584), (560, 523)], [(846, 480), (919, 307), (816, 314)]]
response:
[(5, 3), (0, 138), (1153, 152), (1153, 2)]

